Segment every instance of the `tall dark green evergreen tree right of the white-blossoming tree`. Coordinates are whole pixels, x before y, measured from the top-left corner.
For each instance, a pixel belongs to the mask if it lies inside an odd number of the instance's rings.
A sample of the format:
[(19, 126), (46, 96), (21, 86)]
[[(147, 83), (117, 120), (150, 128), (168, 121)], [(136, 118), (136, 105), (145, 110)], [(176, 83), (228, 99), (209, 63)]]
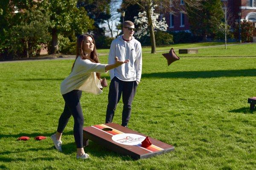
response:
[[(186, 2), (185, 2), (186, 3)], [(220, 0), (207, 0), (201, 2), (201, 8), (188, 8), (190, 28), (193, 34), (203, 36), (211, 35), (218, 30), (224, 16)]]

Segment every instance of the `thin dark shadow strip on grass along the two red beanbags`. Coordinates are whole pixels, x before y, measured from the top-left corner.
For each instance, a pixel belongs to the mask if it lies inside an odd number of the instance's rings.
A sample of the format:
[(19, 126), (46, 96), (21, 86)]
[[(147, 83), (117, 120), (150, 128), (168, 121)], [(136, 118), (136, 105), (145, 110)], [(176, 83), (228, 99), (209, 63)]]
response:
[[(46, 136), (50, 137), (53, 133), (18, 133), (18, 134), (1, 134), (0, 133), (0, 139), (1, 138), (19, 138), (20, 136), (28, 136), (31, 139), (34, 139), (36, 136)], [(65, 132), (65, 135), (73, 135), (73, 131)]]

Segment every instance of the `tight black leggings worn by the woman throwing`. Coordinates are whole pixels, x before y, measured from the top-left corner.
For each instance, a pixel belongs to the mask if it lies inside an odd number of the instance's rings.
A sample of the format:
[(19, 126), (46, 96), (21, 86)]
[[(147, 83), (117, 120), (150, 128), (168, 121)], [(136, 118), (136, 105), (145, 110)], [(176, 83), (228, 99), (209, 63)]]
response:
[(57, 132), (62, 133), (72, 115), (74, 118), (73, 132), (77, 148), (83, 147), (84, 116), (80, 104), (81, 95), (82, 91), (79, 90), (73, 90), (62, 95), (65, 100), (65, 107), (60, 116), (57, 129)]

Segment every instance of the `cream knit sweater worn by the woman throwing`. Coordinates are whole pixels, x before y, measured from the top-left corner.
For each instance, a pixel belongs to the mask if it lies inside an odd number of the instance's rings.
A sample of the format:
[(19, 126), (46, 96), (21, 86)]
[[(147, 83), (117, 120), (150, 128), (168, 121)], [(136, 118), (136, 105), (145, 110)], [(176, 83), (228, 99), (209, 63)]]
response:
[(73, 71), (61, 82), (61, 94), (81, 90), (92, 94), (101, 94), (102, 88), (96, 73), (105, 73), (106, 64), (94, 63), (89, 59), (77, 57)]

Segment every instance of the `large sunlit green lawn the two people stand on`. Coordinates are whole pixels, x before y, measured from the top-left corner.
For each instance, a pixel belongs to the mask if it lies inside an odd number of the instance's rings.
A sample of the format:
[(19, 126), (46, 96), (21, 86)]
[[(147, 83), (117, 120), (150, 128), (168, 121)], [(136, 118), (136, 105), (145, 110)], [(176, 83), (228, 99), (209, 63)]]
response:
[[(181, 57), (167, 66), (160, 54), (143, 54), (129, 128), (175, 151), (142, 160), (91, 141), (85, 148), (91, 159), (76, 160), (72, 118), (63, 153), (54, 148), (49, 136), (64, 108), (59, 86), (73, 60), (0, 63), (0, 169), (255, 170), (256, 111), (247, 98), (256, 96), (256, 58), (231, 56), (237, 53)], [(106, 63), (107, 56), (100, 60)], [(110, 83), (109, 74), (102, 77)], [(108, 88), (99, 96), (83, 93), (84, 126), (105, 122), (107, 98)], [(121, 123), (121, 112), (122, 101), (113, 122)], [(35, 141), (39, 135), (47, 139)], [(17, 141), (20, 136), (31, 139)]]

